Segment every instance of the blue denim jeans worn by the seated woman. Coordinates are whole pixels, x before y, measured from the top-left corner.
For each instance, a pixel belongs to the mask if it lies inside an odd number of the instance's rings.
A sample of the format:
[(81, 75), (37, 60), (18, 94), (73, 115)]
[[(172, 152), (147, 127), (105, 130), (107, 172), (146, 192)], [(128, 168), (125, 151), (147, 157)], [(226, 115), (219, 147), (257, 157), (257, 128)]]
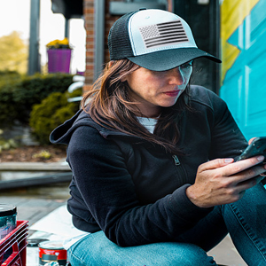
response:
[(121, 247), (98, 231), (71, 246), (67, 255), (72, 266), (212, 266), (216, 263), (207, 251), (228, 232), (247, 265), (266, 265), (266, 191), (262, 184), (247, 190), (235, 203), (215, 207), (176, 242)]

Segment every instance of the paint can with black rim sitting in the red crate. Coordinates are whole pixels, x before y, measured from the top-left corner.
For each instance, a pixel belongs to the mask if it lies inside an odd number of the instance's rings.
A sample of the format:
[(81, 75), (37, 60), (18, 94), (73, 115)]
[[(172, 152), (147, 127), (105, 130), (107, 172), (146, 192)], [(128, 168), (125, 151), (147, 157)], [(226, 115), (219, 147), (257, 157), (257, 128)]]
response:
[(13, 231), (17, 226), (17, 207), (0, 204), (0, 239)]

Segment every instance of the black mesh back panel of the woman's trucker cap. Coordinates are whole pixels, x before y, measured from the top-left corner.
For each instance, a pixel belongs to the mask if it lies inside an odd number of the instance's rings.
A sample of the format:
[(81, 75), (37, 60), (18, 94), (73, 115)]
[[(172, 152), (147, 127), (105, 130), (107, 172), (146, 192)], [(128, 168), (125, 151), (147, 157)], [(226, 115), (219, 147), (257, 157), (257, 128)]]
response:
[(130, 12), (116, 20), (108, 35), (108, 48), (111, 60), (126, 59), (133, 56), (129, 40), (129, 19), (136, 12)]

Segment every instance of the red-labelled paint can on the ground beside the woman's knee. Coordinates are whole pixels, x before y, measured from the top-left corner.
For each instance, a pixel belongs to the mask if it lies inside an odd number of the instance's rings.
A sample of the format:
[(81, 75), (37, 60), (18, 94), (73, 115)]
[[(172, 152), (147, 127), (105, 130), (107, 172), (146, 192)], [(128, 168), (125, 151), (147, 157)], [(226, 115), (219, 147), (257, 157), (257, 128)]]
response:
[(39, 244), (39, 266), (49, 262), (66, 266), (67, 252), (62, 241), (44, 241)]

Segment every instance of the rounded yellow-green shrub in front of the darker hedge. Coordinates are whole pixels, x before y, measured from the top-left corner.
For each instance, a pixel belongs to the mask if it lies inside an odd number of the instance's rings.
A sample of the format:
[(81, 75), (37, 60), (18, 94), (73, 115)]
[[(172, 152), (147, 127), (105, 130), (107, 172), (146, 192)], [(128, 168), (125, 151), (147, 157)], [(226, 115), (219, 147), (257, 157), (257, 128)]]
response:
[(61, 123), (71, 118), (79, 109), (79, 103), (68, 103), (67, 98), (82, 95), (82, 89), (73, 93), (53, 92), (42, 103), (33, 106), (29, 125), (33, 129), (35, 139), (43, 145), (50, 144), (51, 131)]

